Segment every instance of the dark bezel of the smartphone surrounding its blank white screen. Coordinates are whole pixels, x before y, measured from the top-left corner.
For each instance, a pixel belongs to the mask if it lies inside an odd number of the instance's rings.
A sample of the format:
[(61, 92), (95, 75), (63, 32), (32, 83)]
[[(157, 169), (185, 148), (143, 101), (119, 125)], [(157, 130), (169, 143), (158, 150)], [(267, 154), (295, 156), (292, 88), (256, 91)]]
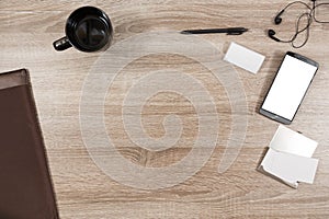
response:
[[(298, 107), (296, 108), (295, 114), (294, 114), (294, 116), (293, 116), (293, 118), (292, 118), (291, 120), (287, 119), (287, 118), (285, 118), (285, 117), (283, 117), (283, 116), (280, 116), (280, 115), (277, 115), (277, 114), (274, 114), (274, 113), (269, 112), (269, 111), (266, 111), (266, 110), (263, 108), (264, 102), (265, 102), (265, 100), (268, 99), (268, 95), (269, 95), (269, 93), (270, 93), (270, 91), (271, 91), (271, 89), (272, 89), (272, 85), (273, 85), (274, 82), (275, 82), (275, 79), (276, 79), (276, 77), (277, 77), (277, 73), (279, 73), (279, 71), (280, 71), (280, 69), (281, 69), (281, 67), (282, 67), (282, 64), (283, 64), (283, 61), (284, 61), (284, 59), (285, 59), (286, 56), (291, 56), (291, 57), (297, 58), (297, 59), (299, 59), (299, 60), (302, 60), (302, 61), (304, 61), (304, 62), (306, 62), (306, 64), (309, 64), (309, 65), (311, 65), (311, 66), (315, 66), (315, 67), (317, 68), (317, 70), (315, 71), (315, 73), (314, 73), (314, 76), (313, 76), (313, 78), (311, 78), (311, 80), (310, 80), (310, 82), (309, 82), (309, 84), (308, 84), (308, 87), (307, 87), (307, 89), (306, 89), (304, 95), (303, 95), (303, 99), (300, 100), (300, 103), (299, 103)], [(299, 106), (300, 106), (300, 104), (302, 104), (302, 102), (303, 102), (303, 100), (304, 100), (304, 97), (305, 97), (305, 95), (306, 95), (306, 93), (307, 93), (307, 91), (308, 91), (308, 89), (309, 89), (309, 85), (310, 85), (310, 83), (313, 82), (313, 79), (314, 79), (314, 77), (316, 76), (316, 72), (318, 71), (318, 69), (319, 69), (319, 64), (318, 64), (318, 62), (316, 62), (316, 61), (314, 61), (314, 60), (311, 60), (311, 59), (309, 59), (309, 58), (307, 58), (307, 57), (305, 57), (305, 56), (302, 56), (302, 55), (299, 55), (299, 54), (296, 54), (296, 53), (293, 53), (293, 51), (287, 51), (287, 53), (285, 54), (285, 56), (283, 57), (282, 61), (281, 61), (281, 65), (280, 65), (277, 71), (276, 71), (275, 78), (274, 78), (274, 80), (272, 81), (271, 88), (269, 89), (269, 91), (268, 91), (268, 93), (266, 93), (266, 95), (265, 95), (265, 97), (264, 97), (264, 100), (263, 100), (263, 102), (262, 102), (262, 105), (261, 105), (261, 107), (260, 107), (259, 113), (260, 113), (261, 115), (264, 115), (264, 116), (266, 116), (266, 117), (269, 117), (269, 118), (271, 118), (271, 119), (273, 119), (273, 120), (276, 120), (276, 122), (279, 122), (279, 123), (282, 123), (282, 124), (285, 124), (285, 125), (290, 125), (290, 124), (294, 120), (294, 118), (295, 118), (295, 116), (296, 116), (296, 114), (297, 114), (297, 112), (298, 112), (298, 110), (299, 110)]]

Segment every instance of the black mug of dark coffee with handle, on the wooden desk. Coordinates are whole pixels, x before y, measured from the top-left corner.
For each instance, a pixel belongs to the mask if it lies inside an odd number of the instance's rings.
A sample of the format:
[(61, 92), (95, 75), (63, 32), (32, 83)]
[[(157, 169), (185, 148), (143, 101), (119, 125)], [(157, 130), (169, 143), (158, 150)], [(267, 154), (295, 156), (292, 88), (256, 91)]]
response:
[(111, 45), (113, 27), (105, 12), (94, 7), (82, 7), (69, 15), (65, 33), (66, 36), (53, 43), (56, 50), (73, 46), (81, 51), (98, 51)]

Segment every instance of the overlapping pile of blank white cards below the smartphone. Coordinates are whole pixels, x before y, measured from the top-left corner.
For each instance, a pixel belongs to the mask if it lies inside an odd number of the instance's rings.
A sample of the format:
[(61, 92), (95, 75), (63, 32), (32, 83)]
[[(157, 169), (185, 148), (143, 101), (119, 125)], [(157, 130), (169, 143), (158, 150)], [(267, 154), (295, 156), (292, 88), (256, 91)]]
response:
[(294, 188), (298, 187), (299, 182), (311, 184), (318, 166), (318, 160), (311, 158), (317, 145), (316, 141), (281, 125), (259, 171)]

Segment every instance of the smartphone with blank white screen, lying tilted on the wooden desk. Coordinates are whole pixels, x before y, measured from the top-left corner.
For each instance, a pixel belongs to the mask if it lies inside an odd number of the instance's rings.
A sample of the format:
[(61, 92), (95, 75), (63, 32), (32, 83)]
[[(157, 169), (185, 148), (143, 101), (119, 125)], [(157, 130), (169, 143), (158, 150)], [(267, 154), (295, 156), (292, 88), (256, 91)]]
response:
[(291, 124), (318, 68), (316, 61), (287, 51), (263, 101), (260, 114), (282, 124)]

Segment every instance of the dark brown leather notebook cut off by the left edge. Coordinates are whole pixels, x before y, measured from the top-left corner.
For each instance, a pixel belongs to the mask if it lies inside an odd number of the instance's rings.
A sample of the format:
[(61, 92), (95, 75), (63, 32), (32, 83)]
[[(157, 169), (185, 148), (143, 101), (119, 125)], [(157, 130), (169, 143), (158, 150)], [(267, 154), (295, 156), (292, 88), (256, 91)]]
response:
[(0, 218), (59, 218), (25, 69), (0, 73)]

